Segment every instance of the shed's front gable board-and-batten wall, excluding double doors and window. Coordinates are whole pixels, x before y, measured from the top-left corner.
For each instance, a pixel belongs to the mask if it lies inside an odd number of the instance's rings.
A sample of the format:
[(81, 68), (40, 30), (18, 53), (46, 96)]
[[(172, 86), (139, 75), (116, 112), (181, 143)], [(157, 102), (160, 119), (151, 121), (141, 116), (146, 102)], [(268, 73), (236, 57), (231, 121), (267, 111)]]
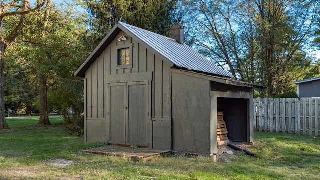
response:
[[(119, 42), (118, 37), (126, 40)], [(131, 48), (131, 64), (118, 66), (118, 49)], [(149, 121), (149, 147), (170, 148), (171, 102), (170, 66), (159, 59), (151, 50), (145, 48), (123, 31), (105, 48), (85, 73), (85, 141), (104, 142), (109, 140), (108, 109), (110, 99), (109, 84), (120, 82), (149, 81), (151, 103)], [(156, 133), (157, 135), (153, 135)], [(162, 134), (159, 135), (159, 134)]]

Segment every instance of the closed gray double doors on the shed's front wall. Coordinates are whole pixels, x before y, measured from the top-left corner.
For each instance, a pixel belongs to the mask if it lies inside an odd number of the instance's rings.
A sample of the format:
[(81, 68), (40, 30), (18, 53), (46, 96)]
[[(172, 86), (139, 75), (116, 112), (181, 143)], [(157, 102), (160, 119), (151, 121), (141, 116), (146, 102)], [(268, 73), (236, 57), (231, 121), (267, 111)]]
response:
[(112, 83), (110, 143), (148, 146), (148, 82)]

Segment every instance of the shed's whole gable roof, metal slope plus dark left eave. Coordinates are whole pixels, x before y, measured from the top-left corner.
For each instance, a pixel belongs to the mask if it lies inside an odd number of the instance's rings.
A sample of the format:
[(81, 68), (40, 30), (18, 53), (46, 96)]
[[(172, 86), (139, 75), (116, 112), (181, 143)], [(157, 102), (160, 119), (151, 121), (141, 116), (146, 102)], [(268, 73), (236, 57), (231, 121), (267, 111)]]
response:
[(210, 75), (233, 77), (221, 67), (215, 65), (207, 58), (193, 50), (191, 47), (178, 43), (175, 39), (159, 35), (123, 22), (118, 22), (104, 37), (93, 52), (86, 58), (76, 70), (74, 76), (85, 76), (85, 71), (112, 42), (116, 35), (124, 31), (138, 43), (144, 45), (161, 60), (168, 63), (172, 68), (185, 69), (194, 72), (202, 72)]

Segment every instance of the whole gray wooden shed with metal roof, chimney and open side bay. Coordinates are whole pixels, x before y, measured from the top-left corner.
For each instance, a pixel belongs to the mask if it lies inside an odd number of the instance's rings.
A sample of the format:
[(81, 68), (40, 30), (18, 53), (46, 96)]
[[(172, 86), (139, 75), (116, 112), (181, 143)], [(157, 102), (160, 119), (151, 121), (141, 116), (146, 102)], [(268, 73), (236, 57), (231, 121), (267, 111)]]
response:
[(183, 43), (119, 22), (75, 76), (84, 79), (84, 140), (186, 153), (217, 152), (217, 111), (228, 137), (253, 141), (254, 84)]

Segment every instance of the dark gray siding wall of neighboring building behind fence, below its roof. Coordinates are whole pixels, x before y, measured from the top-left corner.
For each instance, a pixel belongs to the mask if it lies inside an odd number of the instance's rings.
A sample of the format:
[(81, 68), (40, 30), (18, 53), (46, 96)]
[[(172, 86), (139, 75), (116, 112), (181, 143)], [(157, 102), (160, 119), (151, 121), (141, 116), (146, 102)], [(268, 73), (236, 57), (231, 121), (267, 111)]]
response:
[(299, 83), (299, 98), (320, 97), (320, 80)]

